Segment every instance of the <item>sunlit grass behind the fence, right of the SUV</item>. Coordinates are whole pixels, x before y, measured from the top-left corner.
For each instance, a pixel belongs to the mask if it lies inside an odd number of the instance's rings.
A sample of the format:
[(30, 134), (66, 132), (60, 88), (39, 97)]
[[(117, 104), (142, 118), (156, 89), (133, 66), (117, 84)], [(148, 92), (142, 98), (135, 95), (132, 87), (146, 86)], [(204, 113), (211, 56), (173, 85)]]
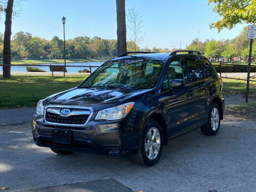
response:
[[(228, 94), (245, 94), (246, 93), (246, 81), (226, 79), (223, 80), (223, 93)], [(250, 94), (256, 95), (256, 82), (250, 82)]]

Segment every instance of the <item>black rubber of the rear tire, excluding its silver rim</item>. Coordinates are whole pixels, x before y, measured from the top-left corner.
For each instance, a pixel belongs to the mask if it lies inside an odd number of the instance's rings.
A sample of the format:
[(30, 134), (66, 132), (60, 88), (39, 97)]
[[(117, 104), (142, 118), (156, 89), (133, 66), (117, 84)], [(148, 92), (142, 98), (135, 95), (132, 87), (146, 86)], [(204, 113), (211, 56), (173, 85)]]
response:
[[(212, 124), (211, 124), (211, 119), (212, 119), (211, 114), (212, 114), (212, 111), (213, 111), (214, 108), (218, 109), (218, 115), (219, 115), (219, 121), (218, 121), (217, 129), (215, 129), (215, 127), (213, 128)], [(210, 105), (210, 109), (209, 109), (207, 124), (201, 127), (201, 131), (205, 135), (212, 136), (212, 135), (217, 134), (219, 132), (219, 129), (220, 129), (220, 108), (215, 102), (212, 102), (211, 105)]]

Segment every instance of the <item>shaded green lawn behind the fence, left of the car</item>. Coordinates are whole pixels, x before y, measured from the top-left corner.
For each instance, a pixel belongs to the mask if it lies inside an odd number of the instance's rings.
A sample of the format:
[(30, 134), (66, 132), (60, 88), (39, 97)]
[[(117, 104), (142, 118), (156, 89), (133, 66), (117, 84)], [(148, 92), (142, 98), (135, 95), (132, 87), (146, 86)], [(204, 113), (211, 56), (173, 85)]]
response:
[(0, 77), (0, 108), (35, 107), (38, 100), (70, 89), (87, 77), (12, 76)]

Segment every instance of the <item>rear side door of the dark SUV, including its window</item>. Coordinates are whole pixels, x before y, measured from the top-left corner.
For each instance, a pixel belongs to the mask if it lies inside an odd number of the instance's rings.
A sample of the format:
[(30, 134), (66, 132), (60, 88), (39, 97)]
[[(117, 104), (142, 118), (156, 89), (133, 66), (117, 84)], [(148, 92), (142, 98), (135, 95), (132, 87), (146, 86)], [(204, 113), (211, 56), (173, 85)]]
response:
[(206, 111), (205, 74), (197, 56), (187, 55), (185, 61), (188, 71), (188, 84), (185, 85), (188, 90), (188, 124), (191, 125), (189, 129), (195, 129), (202, 125)]

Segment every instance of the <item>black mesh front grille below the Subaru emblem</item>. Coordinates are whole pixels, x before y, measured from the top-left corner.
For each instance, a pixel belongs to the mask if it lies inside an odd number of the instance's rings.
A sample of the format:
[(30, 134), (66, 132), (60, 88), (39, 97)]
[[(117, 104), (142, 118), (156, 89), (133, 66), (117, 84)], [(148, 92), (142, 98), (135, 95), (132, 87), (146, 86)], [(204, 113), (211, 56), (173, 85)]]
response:
[(73, 124), (73, 125), (83, 125), (87, 121), (89, 115), (71, 115), (68, 117), (62, 117), (58, 114), (49, 113), (46, 111), (45, 120), (52, 123), (61, 124)]

